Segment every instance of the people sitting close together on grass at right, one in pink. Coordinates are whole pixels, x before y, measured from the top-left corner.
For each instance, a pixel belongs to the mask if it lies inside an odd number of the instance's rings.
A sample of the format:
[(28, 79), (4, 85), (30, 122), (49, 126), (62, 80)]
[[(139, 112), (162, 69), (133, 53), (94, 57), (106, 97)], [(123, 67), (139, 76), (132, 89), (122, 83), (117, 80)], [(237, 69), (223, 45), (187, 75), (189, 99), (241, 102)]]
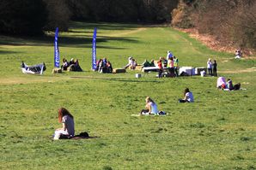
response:
[(238, 91), (241, 90), (241, 84), (235, 84), (233, 85), (233, 82), (231, 79), (226, 79), (224, 77), (219, 77), (217, 79), (216, 87), (218, 89), (224, 90), (224, 91)]

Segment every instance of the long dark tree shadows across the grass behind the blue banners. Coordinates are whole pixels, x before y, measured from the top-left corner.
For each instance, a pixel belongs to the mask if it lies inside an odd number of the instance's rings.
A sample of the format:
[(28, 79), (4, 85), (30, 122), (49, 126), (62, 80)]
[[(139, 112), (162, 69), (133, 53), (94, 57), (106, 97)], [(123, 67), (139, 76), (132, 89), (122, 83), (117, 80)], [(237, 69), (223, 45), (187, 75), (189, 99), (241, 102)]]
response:
[[(93, 29), (98, 27), (100, 30), (134, 30), (137, 29), (137, 25), (132, 24), (114, 24), (114, 23), (82, 23), (82, 22), (72, 22), (70, 24), (70, 31), (68, 33), (74, 33), (73, 35), (62, 35), (58, 38), (59, 47), (76, 47), (84, 48), (91, 47), (93, 39), (93, 31), (88, 31), (88, 29)], [(81, 29), (81, 30), (77, 30)], [(87, 30), (86, 30), (87, 29)], [(84, 30), (84, 31), (83, 31)], [(91, 32), (90, 35), (85, 35)], [(77, 34), (76, 34), (77, 33)], [(84, 35), (79, 35), (83, 33)], [(110, 36), (98, 36), (97, 44), (107, 43), (109, 41), (122, 41), (129, 43), (137, 43), (137, 38), (134, 37), (110, 37)], [(48, 34), (42, 37), (25, 37), (25, 36), (0, 36), (0, 44), (6, 45), (31, 45), (31, 46), (52, 46), (54, 44), (54, 32), (48, 32)], [(124, 48), (119, 47), (109, 47), (104, 45), (98, 45), (98, 48), (106, 49), (116, 49), (123, 50)]]

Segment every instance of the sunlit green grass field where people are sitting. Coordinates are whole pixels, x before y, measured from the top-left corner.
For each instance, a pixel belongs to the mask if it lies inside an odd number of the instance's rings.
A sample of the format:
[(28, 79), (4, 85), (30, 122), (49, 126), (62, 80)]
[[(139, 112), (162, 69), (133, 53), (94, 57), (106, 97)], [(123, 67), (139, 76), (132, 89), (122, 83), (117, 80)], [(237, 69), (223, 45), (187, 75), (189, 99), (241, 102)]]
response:
[[(219, 75), (247, 91), (218, 91), (216, 77), (157, 79), (156, 73), (101, 74), (97, 56), (123, 67), (173, 51), (180, 66), (205, 67), (216, 59)], [(0, 36), (0, 169), (256, 169), (255, 59), (209, 50), (186, 33), (164, 26), (74, 22), (60, 32), (61, 57), (77, 58), (82, 73), (52, 74), (54, 32), (44, 38)], [(21, 73), (46, 62), (42, 75)], [(189, 87), (195, 103), (177, 103)], [(168, 116), (133, 117), (152, 97)], [(83, 140), (52, 141), (58, 108), (70, 110)]]

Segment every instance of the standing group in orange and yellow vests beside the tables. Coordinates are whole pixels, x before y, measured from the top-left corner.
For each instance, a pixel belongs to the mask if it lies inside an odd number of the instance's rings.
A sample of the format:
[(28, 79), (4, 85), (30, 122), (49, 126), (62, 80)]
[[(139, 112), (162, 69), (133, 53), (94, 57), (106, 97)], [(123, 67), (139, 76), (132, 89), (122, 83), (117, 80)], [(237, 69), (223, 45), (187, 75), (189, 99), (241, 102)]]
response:
[(175, 56), (168, 56), (160, 57), (159, 61), (157, 62), (158, 66), (158, 78), (162, 78), (163, 71), (165, 68), (168, 69), (168, 77), (174, 78), (179, 76), (179, 66), (178, 66), (179, 60)]

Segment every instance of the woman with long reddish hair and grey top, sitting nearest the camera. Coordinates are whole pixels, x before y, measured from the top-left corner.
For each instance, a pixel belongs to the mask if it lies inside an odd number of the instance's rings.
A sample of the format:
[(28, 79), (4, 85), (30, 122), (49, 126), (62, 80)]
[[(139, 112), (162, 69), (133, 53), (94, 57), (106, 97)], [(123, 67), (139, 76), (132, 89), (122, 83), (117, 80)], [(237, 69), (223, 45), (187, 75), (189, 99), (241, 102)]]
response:
[(74, 117), (66, 108), (58, 109), (58, 122), (62, 123), (62, 128), (56, 129), (53, 139), (59, 139), (61, 136), (70, 138), (75, 135)]

